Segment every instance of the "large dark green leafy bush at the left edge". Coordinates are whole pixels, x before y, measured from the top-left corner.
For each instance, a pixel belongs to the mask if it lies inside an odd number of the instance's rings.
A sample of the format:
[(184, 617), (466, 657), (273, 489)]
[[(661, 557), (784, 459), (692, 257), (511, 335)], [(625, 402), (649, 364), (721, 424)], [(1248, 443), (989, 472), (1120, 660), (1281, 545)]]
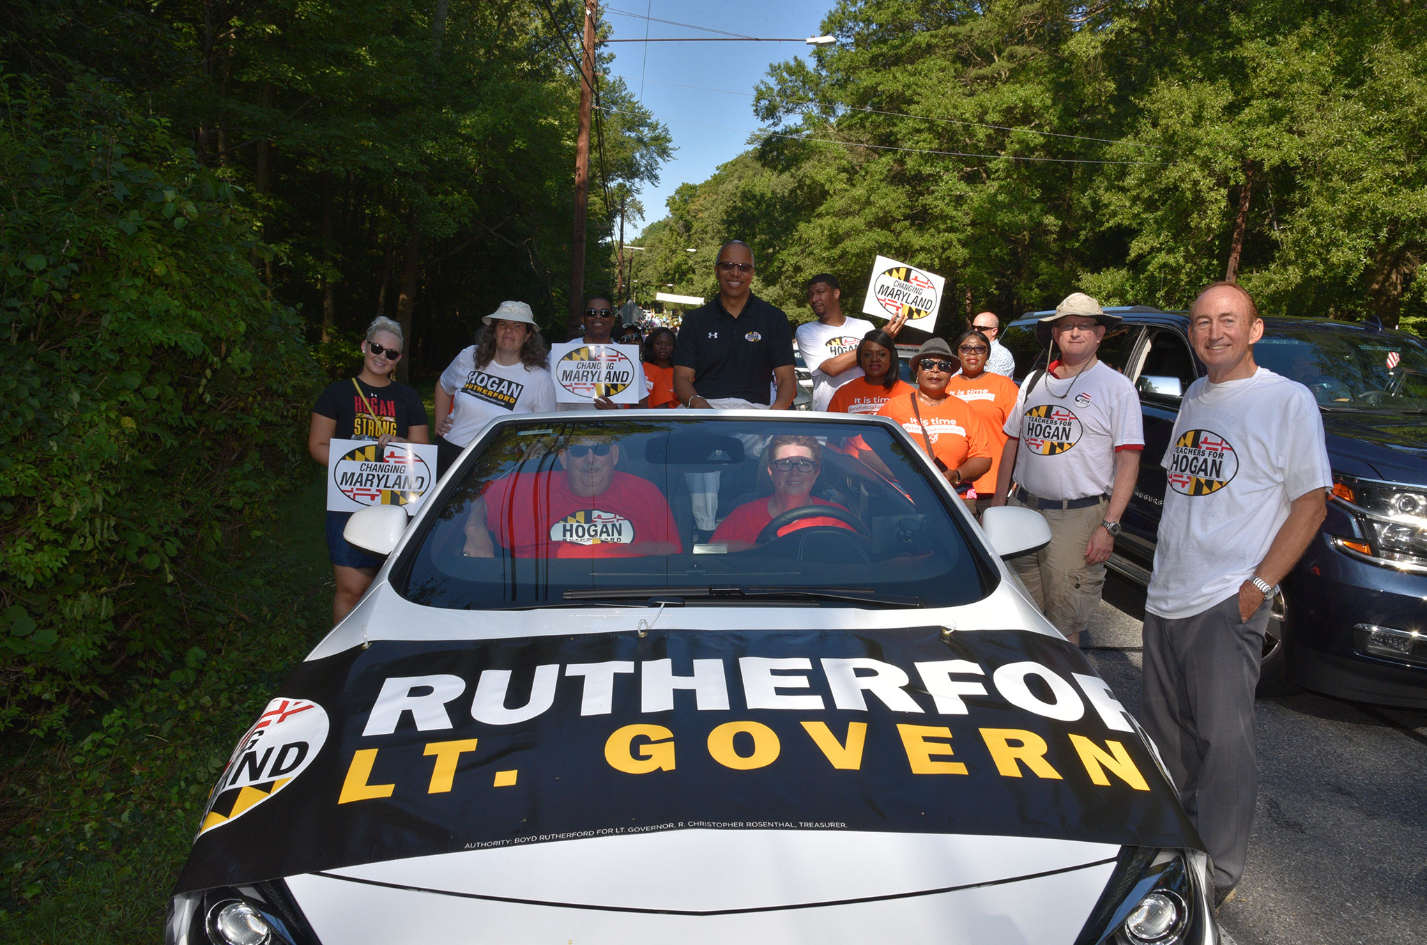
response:
[(43, 734), (118, 667), (193, 672), (317, 374), (234, 190), (106, 84), (0, 76), (0, 732)]

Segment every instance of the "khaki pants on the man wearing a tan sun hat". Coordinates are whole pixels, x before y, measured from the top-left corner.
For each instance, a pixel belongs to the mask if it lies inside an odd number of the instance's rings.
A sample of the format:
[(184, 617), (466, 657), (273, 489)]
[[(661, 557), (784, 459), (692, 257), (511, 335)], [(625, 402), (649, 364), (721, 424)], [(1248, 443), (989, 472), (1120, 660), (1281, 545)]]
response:
[[(1033, 508), (1012, 495), (1007, 505)], [(1090, 625), (1104, 588), (1104, 565), (1087, 565), (1085, 547), (1100, 527), (1109, 500), (1086, 508), (1039, 510), (1050, 525), (1050, 544), (1035, 554), (1010, 560), (1010, 567), (1030, 591), (1030, 600), (1062, 634), (1069, 637)]]

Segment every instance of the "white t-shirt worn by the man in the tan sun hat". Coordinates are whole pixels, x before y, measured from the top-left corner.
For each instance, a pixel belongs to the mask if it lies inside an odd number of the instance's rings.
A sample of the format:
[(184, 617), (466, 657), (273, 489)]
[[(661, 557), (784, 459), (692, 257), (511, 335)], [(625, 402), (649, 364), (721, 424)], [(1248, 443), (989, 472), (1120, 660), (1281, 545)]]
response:
[(1020, 441), (1015, 478), (1040, 498), (1106, 495), (1114, 485), (1114, 451), (1144, 445), (1140, 397), (1104, 361), (1075, 377), (1045, 374), (1030, 397), (1020, 387), (1002, 428)]

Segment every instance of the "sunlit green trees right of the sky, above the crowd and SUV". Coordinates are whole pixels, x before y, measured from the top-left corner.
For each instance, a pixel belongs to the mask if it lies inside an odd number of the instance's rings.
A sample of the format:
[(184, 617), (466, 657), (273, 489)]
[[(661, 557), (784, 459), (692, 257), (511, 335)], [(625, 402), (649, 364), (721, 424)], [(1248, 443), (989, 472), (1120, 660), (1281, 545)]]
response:
[(860, 300), (878, 253), (959, 313), (1232, 274), (1267, 311), (1427, 315), (1420, 6), (842, 0), (823, 31), (761, 86), (753, 150), (645, 234), (651, 281), (706, 294), (679, 248), (739, 236), (802, 317), (808, 276)]

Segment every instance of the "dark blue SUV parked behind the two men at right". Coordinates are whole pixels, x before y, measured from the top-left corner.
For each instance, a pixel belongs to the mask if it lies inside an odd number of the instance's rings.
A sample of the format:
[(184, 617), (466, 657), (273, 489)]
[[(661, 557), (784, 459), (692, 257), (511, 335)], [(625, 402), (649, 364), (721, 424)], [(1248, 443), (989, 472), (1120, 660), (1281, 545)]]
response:
[[(1179, 401), (1204, 374), (1182, 311), (1109, 308), (1124, 321), (1099, 357), (1134, 381), (1144, 457), (1110, 567), (1149, 581)], [(1000, 341), (1016, 381), (1046, 363), (1027, 313)], [(1293, 684), (1383, 705), (1427, 707), (1427, 344), (1327, 318), (1264, 318), (1254, 360), (1301, 381), (1323, 410), (1333, 494), (1323, 528), (1283, 581), (1260, 692)], [(1263, 423), (1274, 423), (1264, 417)], [(1166, 535), (1166, 540), (1170, 537)]]

